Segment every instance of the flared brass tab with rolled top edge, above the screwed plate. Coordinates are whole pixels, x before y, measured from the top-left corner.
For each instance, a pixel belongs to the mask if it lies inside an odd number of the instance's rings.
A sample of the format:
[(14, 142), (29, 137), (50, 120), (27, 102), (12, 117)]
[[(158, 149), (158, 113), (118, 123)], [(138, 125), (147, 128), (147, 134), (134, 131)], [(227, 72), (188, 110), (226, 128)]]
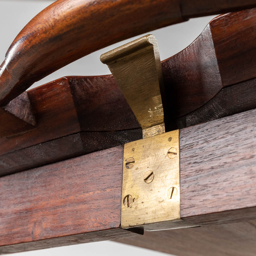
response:
[(163, 74), (157, 40), (146, 35), (100, 56), (141, 125), (143, 138), (164, 133)]

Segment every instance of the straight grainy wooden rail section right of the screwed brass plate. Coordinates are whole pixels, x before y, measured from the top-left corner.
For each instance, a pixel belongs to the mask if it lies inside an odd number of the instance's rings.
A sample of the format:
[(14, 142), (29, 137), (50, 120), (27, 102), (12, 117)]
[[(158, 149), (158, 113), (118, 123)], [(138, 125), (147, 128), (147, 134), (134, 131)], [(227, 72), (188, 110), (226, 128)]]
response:
[(241, 211), (243, 220), (255, 219), (255, 210), (248, 212), (256, 206), (255, 123), (250, 110), (180, 130), (182, 219), (215, 225), (238, 221)]

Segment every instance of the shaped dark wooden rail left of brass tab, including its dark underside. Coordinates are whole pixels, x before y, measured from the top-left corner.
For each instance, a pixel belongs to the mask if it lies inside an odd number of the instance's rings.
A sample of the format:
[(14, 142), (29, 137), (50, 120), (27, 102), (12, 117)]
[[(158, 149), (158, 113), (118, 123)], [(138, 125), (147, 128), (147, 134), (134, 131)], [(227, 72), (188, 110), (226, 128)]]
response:
[(28, 95), (37, 126), (19, 136), (0, 138), (0, 175), (142, 138), (112, 76), (62, 78)]

